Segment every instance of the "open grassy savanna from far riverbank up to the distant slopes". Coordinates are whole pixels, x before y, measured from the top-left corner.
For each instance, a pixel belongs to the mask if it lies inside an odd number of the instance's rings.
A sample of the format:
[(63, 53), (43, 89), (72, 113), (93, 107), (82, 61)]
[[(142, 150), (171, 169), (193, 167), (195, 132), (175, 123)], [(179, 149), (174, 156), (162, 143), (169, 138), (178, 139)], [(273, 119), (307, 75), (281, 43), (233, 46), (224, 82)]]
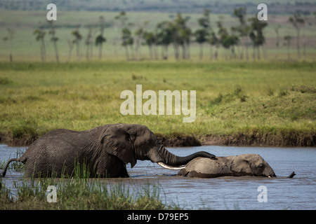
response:
[[(239, 20), (232, 15), (235, 5), (230, 13), (211, 10), (208, 15), (203, 8), (183, 14), (83, 10), (78, 15), (68, 6), (57, 5), (55, 37), (46, 21), (47, 11), (31, 10), (31, 5), (20, 10), (18, 3), (11, 10), (1, 10), (4, 23), (0, 31), (6, 40), (0, 49), (1, 142), (29, 145), (58, 128), (88, 130), (107, 123), (138, 123), (171, 142), (191, 138), (199, 144), (315, 146), (314, 14), (300, 15), (305, 22), (300, 25), (298, 54), (296, 29), (289, 22), (293, 13), (274, 12), (282, 9), (279, 4), (272, 7), (274, 13), (269, 14), (263, 29), (265, 43), (258, 49), (244, 37), (228, 49), (197, 43), (194, 32), (201, 29), (201, 18), (209, 21), (207, 29), (218, 38), (223, 32), (233, 35), (232, 27), (239, 29)], [(123, 7), (121, 3), (117, 6)], [(289, 3), (287, 7), (314, 10), (312, 3)], [(249, 4), (247, 10), (244, 16), (251, 18), (256, 7)], [(163, 21), (182, 21), (192, 30), (190, 45), (186, 49), (178, 46), (178, 59), (172, 42), (166, 52), (160, 45), (150, 47), (146, 35), (140, 35), (140, 31), (161, 31), (159, 22)], [(250, 26), (251, 20), (245, 21)], [(93, 38), (100, 34), (102, 24), (105, 42), (100, 46)], [(127, 47), (122, 42), (124, 24), (133, 36), (133, 45)], [(58, 41), (52, 41), (56, 37)], [(55, 62), (56, 52), (59, 63)], [(10, 54), (13, 63), (9, 63)], [(183, 123), (183, 113), (175, 116), (174, 111), (172, 116), (123, 116), (120, 94), (131, 90), (136, 97), (136, 85), (157, 95), (159, 90), (196, 90), (195, 121)]]

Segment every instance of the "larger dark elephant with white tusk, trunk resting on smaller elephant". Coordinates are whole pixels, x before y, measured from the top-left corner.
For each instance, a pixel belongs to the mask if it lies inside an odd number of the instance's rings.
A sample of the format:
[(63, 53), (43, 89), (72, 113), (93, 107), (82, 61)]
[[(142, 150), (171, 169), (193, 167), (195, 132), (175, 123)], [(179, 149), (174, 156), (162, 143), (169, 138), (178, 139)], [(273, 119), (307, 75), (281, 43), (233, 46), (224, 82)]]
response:
[(151, 160), (166, 169), (183, 169), (194, 158), (216, 159), (207, 152), (185, 157), (173, 155), (144, 125), (109, 124), (86, 131), (53, 130), (34, 141), (20, 157), (8, 160), (25, 164), (25, 177), (74, 176), (76, 165), (85, 165), (89, 176), (129, 177), (137, 160)]

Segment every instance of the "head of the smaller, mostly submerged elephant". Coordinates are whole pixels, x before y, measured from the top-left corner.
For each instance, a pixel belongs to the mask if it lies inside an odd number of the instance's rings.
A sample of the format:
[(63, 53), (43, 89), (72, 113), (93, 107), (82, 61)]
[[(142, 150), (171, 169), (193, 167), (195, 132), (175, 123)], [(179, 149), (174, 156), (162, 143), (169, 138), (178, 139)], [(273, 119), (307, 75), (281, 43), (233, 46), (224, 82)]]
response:
[(268, 176), (276, 177), (273, 169), (258, 154), (237, 155), (230, 162), (234, 176)]

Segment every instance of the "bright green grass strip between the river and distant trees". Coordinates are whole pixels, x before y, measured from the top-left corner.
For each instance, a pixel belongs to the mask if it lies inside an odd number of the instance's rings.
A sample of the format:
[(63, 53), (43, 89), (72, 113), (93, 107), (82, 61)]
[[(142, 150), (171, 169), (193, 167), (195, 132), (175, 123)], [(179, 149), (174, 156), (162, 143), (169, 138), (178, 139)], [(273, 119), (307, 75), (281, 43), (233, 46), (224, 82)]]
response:
[[(50, 130), (138, 123), (166, 137), (313, 146), (315, 69), (308, 62), (0, 63), (0, 136), (30, 144)], [(196, 90), (197, 118), (122, 116), (123, 90)], [(145, 99), (143, 100), (143, 103)]]

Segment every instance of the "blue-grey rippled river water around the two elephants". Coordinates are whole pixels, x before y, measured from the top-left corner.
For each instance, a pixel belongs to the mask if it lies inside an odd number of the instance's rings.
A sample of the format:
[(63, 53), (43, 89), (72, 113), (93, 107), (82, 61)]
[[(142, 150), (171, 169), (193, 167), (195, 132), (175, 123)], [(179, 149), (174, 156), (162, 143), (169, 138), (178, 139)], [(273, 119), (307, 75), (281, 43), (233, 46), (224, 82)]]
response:
[[(174, 176), (176, 171), (150, 161), (138, 161), (133, 169), (127, 165), (130, 179), (106, 181), (123, 182), (125, 188), (131, 189), (140, 189), (147, 183), (159, 186), (164, 203), (177, 204), (184, 209), (316, 209), (316, 148), (199, 146), (167, 149), (180, 156), (197, 151), (217, 156), (256, 153), (268, 162), (277, 178), (229, 176), (192, 179)], [(17, 147), (0, 145), (0, 162), (13, 158), (16, 151)], [(296, 176), (288, 179), (291, 172)], [(10, 187), (21, 176), (20, 172), (8, 170), (3, 181)], [(264, 186), (266, 197), (262, 196), (260, 186)], [(258, 202), (258, 198), (266, 202)]]

